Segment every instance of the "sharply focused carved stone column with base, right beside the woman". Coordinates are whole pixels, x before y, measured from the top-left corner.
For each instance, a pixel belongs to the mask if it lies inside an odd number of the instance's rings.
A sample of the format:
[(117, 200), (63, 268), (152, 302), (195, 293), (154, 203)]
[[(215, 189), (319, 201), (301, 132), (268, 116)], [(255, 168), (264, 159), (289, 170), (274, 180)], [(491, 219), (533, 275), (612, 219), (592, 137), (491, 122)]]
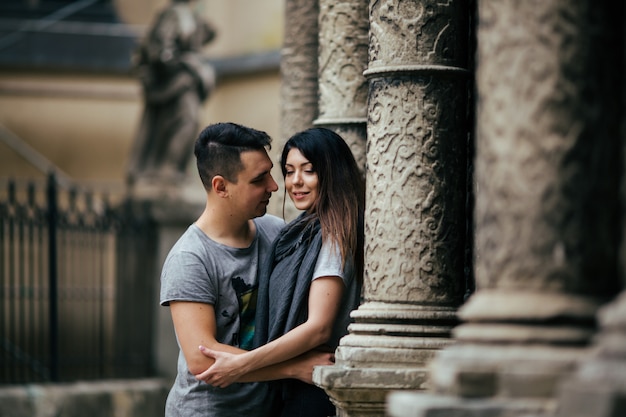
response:
[(370, 8), (365, 303), (333, 367), (338, 416), (383, 416), (386, 394), (426, 387), (464, 291), (468, 140), (465, 0)]

